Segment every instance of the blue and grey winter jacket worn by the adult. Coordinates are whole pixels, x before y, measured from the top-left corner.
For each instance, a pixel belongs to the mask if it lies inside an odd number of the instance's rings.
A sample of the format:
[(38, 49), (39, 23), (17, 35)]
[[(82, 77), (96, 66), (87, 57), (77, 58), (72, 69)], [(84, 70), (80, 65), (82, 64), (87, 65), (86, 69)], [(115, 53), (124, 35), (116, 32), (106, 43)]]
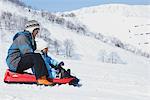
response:
[(10, 70), (16, 71), (21, 57), (26, 53), (33, 53), (36, 49), (36, 43), (30, 32), (23, 31), (13, 37), (8, 55), (6, 58)]

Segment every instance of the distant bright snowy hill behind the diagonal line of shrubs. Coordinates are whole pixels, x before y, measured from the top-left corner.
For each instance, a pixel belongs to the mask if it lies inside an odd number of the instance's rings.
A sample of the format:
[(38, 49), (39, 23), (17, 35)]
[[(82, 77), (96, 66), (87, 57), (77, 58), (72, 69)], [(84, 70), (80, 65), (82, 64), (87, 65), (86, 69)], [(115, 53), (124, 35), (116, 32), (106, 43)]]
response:
[(92, 32), (116, 37), (150, 52), (149, 5), (109, 4), (82, 8), (72, 13)]

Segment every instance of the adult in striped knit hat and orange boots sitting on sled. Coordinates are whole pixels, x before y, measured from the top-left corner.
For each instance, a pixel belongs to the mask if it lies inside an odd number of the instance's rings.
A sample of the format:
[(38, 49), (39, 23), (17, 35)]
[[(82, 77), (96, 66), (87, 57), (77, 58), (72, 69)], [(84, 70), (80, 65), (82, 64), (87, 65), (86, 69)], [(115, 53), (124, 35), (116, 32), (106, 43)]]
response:
[(44, 60), (36, 50), (35, 37), (40, 30), (37, 21), (28, 21), (23, 32), (17, 33), (8, 50), (6, 62), (11, 71), (23, 73), (24, 70), (34, 68), (37, 84), (53, 85), (47, 80), (48, 71)]

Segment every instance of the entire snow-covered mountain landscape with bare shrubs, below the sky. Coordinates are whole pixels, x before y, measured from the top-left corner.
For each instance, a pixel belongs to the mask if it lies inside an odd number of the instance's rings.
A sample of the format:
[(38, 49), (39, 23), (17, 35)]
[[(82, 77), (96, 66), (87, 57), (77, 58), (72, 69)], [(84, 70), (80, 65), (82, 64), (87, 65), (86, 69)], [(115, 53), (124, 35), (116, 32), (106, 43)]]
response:
[[(142, 52), (143, 55), (146, 47), (137, 45), (135, 40), (135, 33), (144, 34), (139, 36), (142, 42), (148, 40), (149, 6), (116, 4), (50, 13), (10, 1), (0, 0), (1, 100), (150, 99), (150, 60), (136, 54)], [(69, 67), (81, 79), (82, 87), (3, 83), (7, 69), (5, 58), (12, 37), (31, 19), (40, 22), (39, 37), (49, 43), (50, 55), (63, 60), (65, 68)], [(71, 47), (71, 53), (65, 53), (66, 44)], [(131, 52), (139, 50), (137, 48), (141, 51)]]

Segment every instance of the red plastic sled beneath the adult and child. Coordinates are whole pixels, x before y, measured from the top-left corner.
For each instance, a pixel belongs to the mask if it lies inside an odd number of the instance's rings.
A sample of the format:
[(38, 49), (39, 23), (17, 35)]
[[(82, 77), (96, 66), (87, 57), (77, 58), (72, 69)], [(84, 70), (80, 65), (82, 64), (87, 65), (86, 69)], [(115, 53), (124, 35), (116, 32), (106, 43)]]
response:
[[(48, 79), (56, 84), (67, 84), (70, 83), (74, 78), (55, 78), (55, 79)], [(34, 84), (37, 83), (36, 77), (34, 74), (30, 73), (16, 73), (12, 72), (9, 69), (6, 70), (4, 76), (5, 83), (26, 83), (26, 84)]]

